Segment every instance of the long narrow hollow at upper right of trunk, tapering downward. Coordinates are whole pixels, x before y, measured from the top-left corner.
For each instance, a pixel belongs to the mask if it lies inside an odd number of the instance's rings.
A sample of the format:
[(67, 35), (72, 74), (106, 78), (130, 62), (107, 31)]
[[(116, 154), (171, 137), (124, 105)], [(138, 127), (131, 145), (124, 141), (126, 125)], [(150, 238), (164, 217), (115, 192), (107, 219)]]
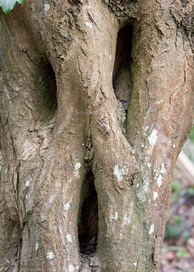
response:
[(126, 134), (127, 113), (131, 90), (131, 63), (132, 63), (133, 28), (127, 24), (119, 30), (116, 43), (116, 54), (112, 74), (112, 86), (119, 103), (118, 119), (123, 134)]

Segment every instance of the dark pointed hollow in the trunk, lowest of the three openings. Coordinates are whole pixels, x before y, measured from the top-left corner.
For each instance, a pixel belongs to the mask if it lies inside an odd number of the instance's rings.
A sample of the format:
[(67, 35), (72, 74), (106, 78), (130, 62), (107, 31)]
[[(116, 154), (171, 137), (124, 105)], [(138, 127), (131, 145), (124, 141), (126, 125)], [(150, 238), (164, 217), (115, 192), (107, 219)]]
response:
[(90, 255), (96, 252), (98, 231), (98, 201), (94, 175), (89, 172), (81, 192), (78, 234), (80, 252)]

